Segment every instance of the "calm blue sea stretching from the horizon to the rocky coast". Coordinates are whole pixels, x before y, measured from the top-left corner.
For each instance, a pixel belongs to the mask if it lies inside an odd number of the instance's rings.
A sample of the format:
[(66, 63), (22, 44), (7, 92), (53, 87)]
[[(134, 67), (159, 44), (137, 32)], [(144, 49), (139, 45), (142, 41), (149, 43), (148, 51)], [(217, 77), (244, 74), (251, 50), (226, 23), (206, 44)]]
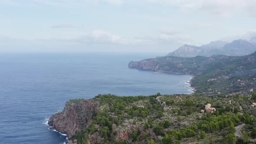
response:
[(98, 94), (191, 93), (190, 75), (129, 69), (128, 62), (156, 54), (0, 54), (0, 143), (60, 144), (48, 118), (74, 98)]

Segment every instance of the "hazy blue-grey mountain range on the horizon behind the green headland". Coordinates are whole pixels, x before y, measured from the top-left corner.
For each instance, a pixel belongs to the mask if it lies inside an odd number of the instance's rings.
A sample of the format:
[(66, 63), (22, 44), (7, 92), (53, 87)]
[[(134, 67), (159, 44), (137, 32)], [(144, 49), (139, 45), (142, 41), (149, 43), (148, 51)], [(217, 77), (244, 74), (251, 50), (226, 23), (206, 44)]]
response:
[(184, 45), (179, 49), (167, 54), (167, 56), (194, 57), (194, 56), (244, 56), (256, 51), (256, 38), (246, 41), (243, 39), (234, 40), (231, 43), (213, 41), (203, 46)]

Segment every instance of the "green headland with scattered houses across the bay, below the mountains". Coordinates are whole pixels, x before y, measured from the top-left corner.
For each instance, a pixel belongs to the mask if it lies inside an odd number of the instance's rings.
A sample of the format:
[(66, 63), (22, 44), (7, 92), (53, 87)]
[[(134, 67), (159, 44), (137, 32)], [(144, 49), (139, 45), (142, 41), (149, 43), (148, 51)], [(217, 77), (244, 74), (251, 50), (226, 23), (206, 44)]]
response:
[(256, 52), (247, 56), (166, 56), (131, 61), (128, 66), (155, 72), (194, 75), (191, 86), (196, 89), (196, 93), (207, 95), (249, 95), (256, 89)]

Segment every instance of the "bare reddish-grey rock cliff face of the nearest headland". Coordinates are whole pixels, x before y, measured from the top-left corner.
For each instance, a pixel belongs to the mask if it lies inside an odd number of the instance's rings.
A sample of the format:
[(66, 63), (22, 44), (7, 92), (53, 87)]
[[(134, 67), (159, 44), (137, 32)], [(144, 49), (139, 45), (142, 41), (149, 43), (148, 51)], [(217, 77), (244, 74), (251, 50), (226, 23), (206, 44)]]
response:
[(98, 112), (98, 102), (93, 100), (68, 101), (64, 110), (49, 118), (50, 128), (67, 134), (71, 138), (76, 132), (92, 123), (93, 115)]

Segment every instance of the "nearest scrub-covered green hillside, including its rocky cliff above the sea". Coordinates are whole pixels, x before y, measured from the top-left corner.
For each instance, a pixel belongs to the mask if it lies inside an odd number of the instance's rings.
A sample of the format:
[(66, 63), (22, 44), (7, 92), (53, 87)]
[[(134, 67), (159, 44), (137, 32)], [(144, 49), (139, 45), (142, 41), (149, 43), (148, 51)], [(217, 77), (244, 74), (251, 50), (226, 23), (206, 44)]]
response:
[[(68, 101), (49, 125), (67, 133), (68, 144), (247, 144), (248, 138), (234, 135), (234, 127), (246, 123), (243, 134), (252, 135), (252, 102), (238, 95), (98, 95)], [(212, 115), (200, 112), (208, 103), (216, 108)]]

